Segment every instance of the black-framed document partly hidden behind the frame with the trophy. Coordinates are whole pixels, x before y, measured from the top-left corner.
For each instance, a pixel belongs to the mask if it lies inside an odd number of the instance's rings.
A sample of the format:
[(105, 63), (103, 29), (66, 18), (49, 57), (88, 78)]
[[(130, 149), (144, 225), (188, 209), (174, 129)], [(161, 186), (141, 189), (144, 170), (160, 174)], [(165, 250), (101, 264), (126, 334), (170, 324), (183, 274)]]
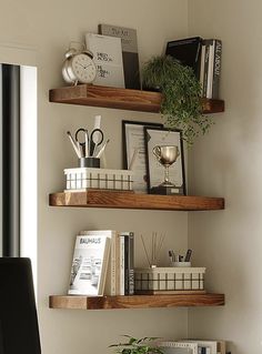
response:
[[(148, 192), (144, 127), (161, 129), (160, 123), (122, 121), (123, 168), (134, 172), (133, 190)], [(132, 164), (132, 165), (131, 165)]]

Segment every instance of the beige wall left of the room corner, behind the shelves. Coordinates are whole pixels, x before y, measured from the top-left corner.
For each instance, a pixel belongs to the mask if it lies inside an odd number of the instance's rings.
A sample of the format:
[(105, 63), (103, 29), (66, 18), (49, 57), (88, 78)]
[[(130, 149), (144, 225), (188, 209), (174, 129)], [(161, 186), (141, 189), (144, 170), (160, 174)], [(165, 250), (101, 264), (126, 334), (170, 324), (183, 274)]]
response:
[[(43, 353), (107, 353), (121, 334), (181, 337), (187, 334), (187, 309), (133, 311), (56, 311), (50, 294), (67, 292), (74, 235), (83, 229), (134, 230), (148, 235), (167, 232), (167, 249), (187, 249), (188, 214), (155, 211), (54, 209), (48, 194), (64, 188), (63, 169), (75, 163), (67, 130), (90, 125), (103, 117), (111, 142), (108, 162), (121, 166), (121, 119), (158, 121), (158, 114), (52, 104), (49, 89), (62, 85), (61, 63), (70, 40), (82, 40), (100, 22), (135, 28), (141, 60), (162, 51), (168, 39), (188, 33), (188, 4), (183, 0), (1, 1), (0, 47), (16, 47), (0, 58), (38, 65), (38, 304)], [(8, 54), (10, 54), (8, 57)], [(29, 55), (30, 57), (30, 55)], [(11, 60), (11, 59), (12, 60)], [(6, 59), (3, 59), (6, 60)], [(28, 59), (31, 63), (31, 59)], [(32, 60), (33, 61), (33, 60)], [(36, 235), (32, 235), (34, 237)], [(137, 264), (144, 263), (137, 241)]]

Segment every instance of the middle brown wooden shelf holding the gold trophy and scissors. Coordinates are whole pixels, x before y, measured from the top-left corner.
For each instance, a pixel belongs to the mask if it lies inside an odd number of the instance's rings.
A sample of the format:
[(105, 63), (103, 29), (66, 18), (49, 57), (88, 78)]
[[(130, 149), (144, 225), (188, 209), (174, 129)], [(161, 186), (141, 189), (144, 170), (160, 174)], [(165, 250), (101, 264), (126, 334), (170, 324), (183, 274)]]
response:
[(61, 192), (49, 196), (52, 206), (150, 209), (170, 211), (204, 211), (224, 209), (223, 198), (137, 194), (132, 192), (88, 190)]

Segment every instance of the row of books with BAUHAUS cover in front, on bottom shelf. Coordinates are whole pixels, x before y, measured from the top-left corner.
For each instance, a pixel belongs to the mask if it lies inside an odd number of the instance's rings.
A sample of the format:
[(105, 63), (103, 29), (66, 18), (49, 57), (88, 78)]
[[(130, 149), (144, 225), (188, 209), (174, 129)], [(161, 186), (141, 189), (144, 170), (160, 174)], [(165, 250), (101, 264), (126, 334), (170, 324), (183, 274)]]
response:
[(134, 234), (113, 230), (77, 235), (69, 295), (133, 295)]

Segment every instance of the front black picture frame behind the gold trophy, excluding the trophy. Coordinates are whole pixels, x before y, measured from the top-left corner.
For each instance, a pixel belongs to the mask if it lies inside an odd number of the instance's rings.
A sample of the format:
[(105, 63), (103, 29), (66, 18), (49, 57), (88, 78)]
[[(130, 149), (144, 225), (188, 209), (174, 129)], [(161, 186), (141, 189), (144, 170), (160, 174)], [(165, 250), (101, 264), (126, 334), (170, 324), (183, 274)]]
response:
[[(171, 193), (167, 192), (167, 194), (187, 195), (182, 131), (179, 129), (170, 130), (164, 128), (144, 127), (144, 143), (145, 165), (148, 175), (148, 193), (162, 194), (155, 192), (154, 190), (163, 181), (164, 175), (164, 168), (157, 161), (157, 158), (153, 155), (152, 146), (159, 144), (177, 144), (179, 146), (180, 155), (177, 159), (177, 161), (169, 168), (171, 182), (175, 182), (175, 188), (172, 189)], [(172, 179), (174, 181), (172, 181)]]

